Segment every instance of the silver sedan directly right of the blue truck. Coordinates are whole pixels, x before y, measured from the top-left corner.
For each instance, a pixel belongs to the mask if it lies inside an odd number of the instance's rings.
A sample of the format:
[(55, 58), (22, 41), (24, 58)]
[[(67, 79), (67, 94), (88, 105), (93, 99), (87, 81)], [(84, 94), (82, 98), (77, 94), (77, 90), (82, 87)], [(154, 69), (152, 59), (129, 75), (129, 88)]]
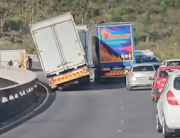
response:
[(155, 74), (155, 68), (150, 64), (133, 65), (126, 76), (126, 88), (132, 90), (135, 87), (151, 88)]

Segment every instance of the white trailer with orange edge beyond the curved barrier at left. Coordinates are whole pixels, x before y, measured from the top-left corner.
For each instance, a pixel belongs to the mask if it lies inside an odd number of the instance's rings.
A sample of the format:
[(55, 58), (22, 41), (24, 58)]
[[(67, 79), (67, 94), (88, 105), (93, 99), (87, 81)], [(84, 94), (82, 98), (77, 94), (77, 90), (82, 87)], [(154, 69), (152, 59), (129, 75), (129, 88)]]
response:
[(0, 50), (0, 65), (7, 65), (12, 60), (14, 67), (26, 69), (26, 50)]

